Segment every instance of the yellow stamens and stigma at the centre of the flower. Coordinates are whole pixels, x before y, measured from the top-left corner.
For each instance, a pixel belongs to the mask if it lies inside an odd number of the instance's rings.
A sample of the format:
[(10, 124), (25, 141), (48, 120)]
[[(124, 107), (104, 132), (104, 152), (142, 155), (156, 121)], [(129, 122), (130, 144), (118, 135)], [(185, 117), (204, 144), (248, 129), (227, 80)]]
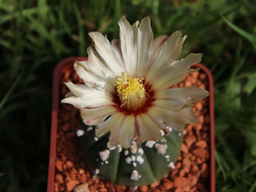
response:
[[(143, 78), (142, 78), (143, 80)], [(142, 80), (130, 78), (126, 72), (122, 72), (122, 78), (117, 78), (117, 93), (121, 102), (121, 108), (128, 111), (136, 111), (146, 104), (145, 88)]]

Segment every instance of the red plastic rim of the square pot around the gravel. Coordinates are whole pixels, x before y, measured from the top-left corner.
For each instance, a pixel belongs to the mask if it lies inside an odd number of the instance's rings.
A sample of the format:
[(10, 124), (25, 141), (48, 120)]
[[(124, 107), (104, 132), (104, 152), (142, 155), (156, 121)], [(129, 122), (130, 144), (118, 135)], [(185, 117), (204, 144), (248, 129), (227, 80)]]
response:
[[(49, 160), (49, 172), (48, 172), (48, 184), (47, 192), (54, 191), (54, 179), (55, 179), (55, 159), (56, 159), (56, 143), (57, 143), (57, 126), (58, 126), (58, 113), (59, 113), (59, 104), (62, 98), (59, 98), (59, 82), (61, 75), (65, 70), (73, 68), (73, 63), (75, 60), (87, 60), (86, 57), (70, 57), (62, 60), (58, 63), (54, 70), (53, 76), (53, 89), (52, 89), (52, 125), (51, 125), (51, 140), (50, 140), (50, 160)], [(213, 78), (209, 69), (204, 65), (197, 63), (192, 66), (200, 67), (208, 79), (208, 91), (209, 95), (209, 116), (210, 116), (210, 189), (211, 192), (215, 192), (215, 142), (214, 142), (214, 104), (213, 104)]]

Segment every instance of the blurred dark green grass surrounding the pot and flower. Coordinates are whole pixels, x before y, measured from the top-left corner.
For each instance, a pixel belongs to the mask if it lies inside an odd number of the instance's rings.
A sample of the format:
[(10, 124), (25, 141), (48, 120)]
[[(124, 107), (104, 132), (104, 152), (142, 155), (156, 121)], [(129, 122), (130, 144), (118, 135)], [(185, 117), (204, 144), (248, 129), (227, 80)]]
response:
[(0, 0), (0, 191), (46, 190), (52, 72), (86, 56), (88, 32), (150, 16), (155, 37), (181, 30), (215, 83), (216, 191), (256, 191), (256, 2)]

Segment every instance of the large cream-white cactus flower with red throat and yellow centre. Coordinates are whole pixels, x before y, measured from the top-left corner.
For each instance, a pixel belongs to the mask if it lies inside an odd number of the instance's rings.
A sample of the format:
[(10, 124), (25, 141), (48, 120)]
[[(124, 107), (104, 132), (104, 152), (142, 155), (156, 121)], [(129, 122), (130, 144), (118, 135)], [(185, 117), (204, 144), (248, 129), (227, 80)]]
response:
[(201, 61), (201, 53), (177, 60), (187, 35), (176, 31), (154, 39), (149, 17), (133, 25), (122, 17), (119, 25), (120, 38), (111, 44), (100, 32), (89, 33), (95, 44), (87, 49), (88, 61), (74, 64), (85, 85), (66, 83), (71, 92), (62, 103), (79, 108), (85, 124), (97, 125), (96, 136), (110, 131), (109, 147), (127, 149), (134, 138), (156, 141), (162, 139), (160, 130), (169, 134), (167, 127), (180, 131), (197, 123), (190, 102), (209, 93), (193, 86), (170, 88), (199, 70), (190, 66)]

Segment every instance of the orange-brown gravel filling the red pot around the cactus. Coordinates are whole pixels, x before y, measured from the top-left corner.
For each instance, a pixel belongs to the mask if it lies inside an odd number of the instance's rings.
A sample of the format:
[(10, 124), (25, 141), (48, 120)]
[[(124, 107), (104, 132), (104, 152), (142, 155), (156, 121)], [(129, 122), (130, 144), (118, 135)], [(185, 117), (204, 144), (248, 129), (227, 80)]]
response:
[[(81, 84), (83, 81), (77, 76), (73, 68), (62, 74), (60, 81), (60, 98), (69, 92), (64, 82), (72, 81)], [(174, 87), (197, 86), (208, 88), (208, 79), (204, 72), (188, 74), (185, 81)], [(130, 191), (135, 192), (207, 192), (210, 187), (209, 178), (209, 101), (206, 97), (194, 104), (193, 109), (198, 117), (198, 124), (185, 127), (185, 134), (181, 154), (175, 169), (161, 181), (152, 185), (137, 188), (115, 185), (97, 178), (85, 164), (76, 131), (81, 129), (79, 110), (70, 104), (59, 104), (57, 148), (55, 161), (55, 192), (107, 192)]]

